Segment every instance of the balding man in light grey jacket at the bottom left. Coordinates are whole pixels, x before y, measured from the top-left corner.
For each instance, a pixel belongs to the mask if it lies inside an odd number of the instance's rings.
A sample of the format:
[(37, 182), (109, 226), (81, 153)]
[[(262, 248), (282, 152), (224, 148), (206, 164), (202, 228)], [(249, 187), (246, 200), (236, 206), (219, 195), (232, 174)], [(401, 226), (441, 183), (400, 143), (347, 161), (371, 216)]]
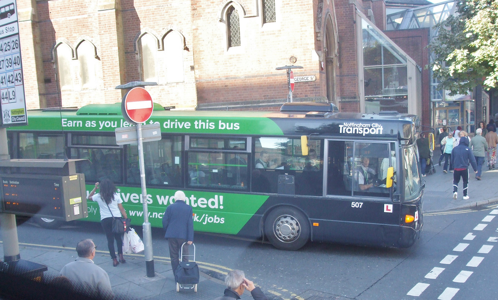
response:
[(77, 292), (84, 293), (94, 299), (113, 299), (113, 289), (109, 275), (93, 262), (97, 246), (90, 238), (76, 245), (78, 258), (65, 265), (60, 275), (71, 281)]

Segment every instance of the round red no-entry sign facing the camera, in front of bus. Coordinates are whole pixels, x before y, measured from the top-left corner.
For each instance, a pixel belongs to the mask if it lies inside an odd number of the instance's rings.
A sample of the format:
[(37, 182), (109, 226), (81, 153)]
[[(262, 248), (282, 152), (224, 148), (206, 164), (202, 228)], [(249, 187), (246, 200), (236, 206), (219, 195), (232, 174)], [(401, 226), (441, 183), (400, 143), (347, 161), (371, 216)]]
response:
[(143, 87), (134, 87), (124, 95), (121, 112), (135, 123), (144, 123), (152, 115), (153, 106), (150, 94)]

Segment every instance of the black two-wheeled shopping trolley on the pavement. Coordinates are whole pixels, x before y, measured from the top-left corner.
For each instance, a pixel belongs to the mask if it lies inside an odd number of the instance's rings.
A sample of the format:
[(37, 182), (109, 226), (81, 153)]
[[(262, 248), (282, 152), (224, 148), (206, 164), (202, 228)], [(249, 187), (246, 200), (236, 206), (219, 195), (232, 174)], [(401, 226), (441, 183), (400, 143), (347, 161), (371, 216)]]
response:
[[(180, 264), (176, 268), (175, 281), (176, 281), (176, 292), (180, 292), (180, 289), (194, 289), (197, 292), (197, 284), (199, 283), (199, 266), (195, 262), (195, 245), (193, 246), (194, 253), (192, 255), (183, 256), (183, 246), (187, 244), (183, 243), (180, 251)], [(189, 245), (187, 244), (187, 247)]]

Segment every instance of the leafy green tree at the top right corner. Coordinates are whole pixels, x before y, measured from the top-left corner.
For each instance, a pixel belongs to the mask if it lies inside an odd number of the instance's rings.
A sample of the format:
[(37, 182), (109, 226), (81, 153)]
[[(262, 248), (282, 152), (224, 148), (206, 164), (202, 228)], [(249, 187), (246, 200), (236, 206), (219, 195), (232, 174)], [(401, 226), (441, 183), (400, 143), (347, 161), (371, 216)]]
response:
[(457, 12), (435, 26), (429, 44), (438, 88), (455, 95), (498, 87), (498, 0), (461, 0)]

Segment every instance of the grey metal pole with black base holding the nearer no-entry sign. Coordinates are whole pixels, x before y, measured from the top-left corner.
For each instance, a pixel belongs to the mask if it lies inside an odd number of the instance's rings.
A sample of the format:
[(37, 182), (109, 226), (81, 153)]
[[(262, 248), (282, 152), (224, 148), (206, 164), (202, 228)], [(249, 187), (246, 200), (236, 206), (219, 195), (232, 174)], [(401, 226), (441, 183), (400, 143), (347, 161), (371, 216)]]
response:
[(154, 256), (152, 254), (152, 234), (149, 223), (149, 212), (147, 209), (147, 190), (145, 187), (145, 167), (143, 165), (143, 138), (142, 138), (142, 124), (136, 124), (136, 138), (138, 140), (138, 161), (140, 164), (140, 185), (142, 187), (141, 201), (143, 204), (143, 248), (145, 251), (145, 269), (147, 270), (147, 277), (154, 277)]

